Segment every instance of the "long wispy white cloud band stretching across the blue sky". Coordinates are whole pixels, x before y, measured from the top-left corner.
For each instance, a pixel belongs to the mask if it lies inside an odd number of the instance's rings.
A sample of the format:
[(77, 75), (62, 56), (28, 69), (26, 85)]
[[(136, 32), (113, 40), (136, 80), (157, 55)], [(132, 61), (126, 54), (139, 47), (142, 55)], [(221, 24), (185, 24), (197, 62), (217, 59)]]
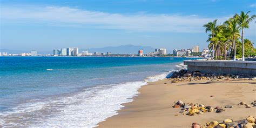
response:
[[(121, 29), (146, 32), (204, 32), (203, 24), (215, 18), (170, 14), (110, 14), (64, 6), (2, 6), (3, 23), (41, 23), (56, 26)], [(218, 18), (223, 23), (228, 17)]]

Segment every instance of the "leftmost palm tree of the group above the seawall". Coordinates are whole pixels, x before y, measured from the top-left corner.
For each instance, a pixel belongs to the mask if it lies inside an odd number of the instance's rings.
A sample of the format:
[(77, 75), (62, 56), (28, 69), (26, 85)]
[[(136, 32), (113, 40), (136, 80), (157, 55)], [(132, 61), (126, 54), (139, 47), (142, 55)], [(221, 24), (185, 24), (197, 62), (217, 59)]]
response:
[[(208, 31), (211, 32), (211, 34), (209, 35), (210, 36), (209, 38), (213, 38), (215, 36), (215, 31), (217, 29), (216, 23), (217, 23), (217, 19), (215, 19), (213, 22), (209, 22), (209, 23), (203, 25), (205, 27), (206, 33)], [(211, 39), (208, 39), (208, 41), (211, 41)], [(213, 50), (213, 58), (214, 58), (214, 44), (212, 45), (212, 50)]]

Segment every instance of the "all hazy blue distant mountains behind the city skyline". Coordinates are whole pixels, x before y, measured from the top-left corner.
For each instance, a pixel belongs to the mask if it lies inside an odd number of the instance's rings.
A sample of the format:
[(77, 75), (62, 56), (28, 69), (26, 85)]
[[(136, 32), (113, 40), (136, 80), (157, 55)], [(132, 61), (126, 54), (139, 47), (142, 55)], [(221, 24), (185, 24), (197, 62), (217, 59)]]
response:
[[(90, 53), (93, 52), (111, 52), (112, 54), (137, 54), (138, 50), (143, 49), (144, 53), (148, 53), (151, 51), (154, 51), (155, 48), (152, 48), (151, 46), (136, 46), (136, 45), (120, 45), (120, 46), (107, 46), (104, 48), (90, 48), (90, 49), (82, 49), (79, 48), (79, 53), (82, 53), (82, 51), (89, 51)], [(0, 49), (0, 52), (8, 52), (12, 54), (22, 53), (22, 52), (31, 52), (26, 50), (10, 50), (10, 49)], [(37, 50), (38, 54), (52, 54), (52, 50), (49, 51), (40, 51)]]

